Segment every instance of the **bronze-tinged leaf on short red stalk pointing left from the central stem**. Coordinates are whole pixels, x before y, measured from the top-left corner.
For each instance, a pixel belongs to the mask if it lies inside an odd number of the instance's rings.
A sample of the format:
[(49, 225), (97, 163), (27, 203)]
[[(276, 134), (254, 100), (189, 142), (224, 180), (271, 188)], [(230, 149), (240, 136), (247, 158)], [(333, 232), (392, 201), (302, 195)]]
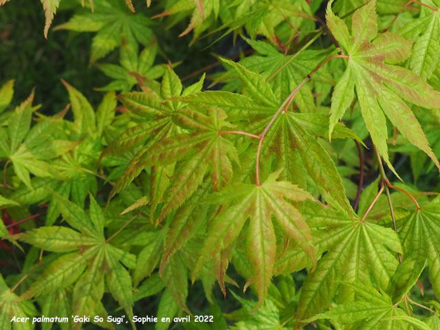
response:
[[(209, 115), (209, 116), (208, 116)], [(204, 175), (209, 171), (214, 190), (220, 190), (232, 180), (232, 163), (239, 164), (239, 158), (233, 144), (225, 140), (219, 131), (228, 127), (226, 115), (220, 109), (208, 109), (208, 115), (198, 111), (181, 109), (175, 113), (173, 119), (180, 126), (194, 129), (197, 133), (176, 136), (173, 140), (186, 141), (183, 145), (163, 140), (154, 146), (147, 157), (152, 162), (166, 165), (190, 155), (175, 170), (173, 179), (165, 193), (165, 205), (157, 221), (162, 221), (166, 214), (181, 205), (201, 184)], [(148, 158), (147, 158), (148, 159)]]

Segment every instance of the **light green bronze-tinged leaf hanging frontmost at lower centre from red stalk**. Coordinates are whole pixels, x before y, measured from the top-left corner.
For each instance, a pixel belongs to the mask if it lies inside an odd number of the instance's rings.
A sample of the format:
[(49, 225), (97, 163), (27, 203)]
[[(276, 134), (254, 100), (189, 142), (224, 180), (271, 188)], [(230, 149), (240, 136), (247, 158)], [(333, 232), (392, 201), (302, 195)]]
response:
[(213, 196), (211, 200), (217, 199), (217, 203), (234, 202), (230, 206), (224, 206), (210, 223), (205, 246), (195, 270), (196, 273), (206, 259), (228, 249), (239, 236), (245, 222), (250, 219), (246, 234), (246, 255), (259, 296), (254, 310), (263, 304), (274, 270), (276, 236), (272, 216), (287, 237), (297, 242), (309, 259), (316, 263), (309, 227), (300, 212), (287, 201), (304, 201), (311, 199), (311, 196), (287, 181), (276, 181), (279, 174), (280, 171), (272, 173), (261, 186), (233, 185)]

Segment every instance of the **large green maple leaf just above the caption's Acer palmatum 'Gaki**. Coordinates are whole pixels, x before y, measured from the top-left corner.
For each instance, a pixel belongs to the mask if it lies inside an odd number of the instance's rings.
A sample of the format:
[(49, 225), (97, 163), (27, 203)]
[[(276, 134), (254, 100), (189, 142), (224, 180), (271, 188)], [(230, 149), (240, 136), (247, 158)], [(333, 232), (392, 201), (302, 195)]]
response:
[[(63, 218), (72, 228), (46, 226), (18, 234), (21, 241), (63, 255), (47, 265), (21, 299), (40, 296), (74, 284), (72, 309), (75, 315), (94, 314), (107, 318), (100, 300), (104, 278), (109, 292), (133, 314), (131, 276), (126, 267), (135, 267), (135, 256), (107, 243), (104, 236), (104, 214), (90, 196), (89, 214), (65, 197), (56, 194)], [(76, 327), (80, 327), (77, 323)]]

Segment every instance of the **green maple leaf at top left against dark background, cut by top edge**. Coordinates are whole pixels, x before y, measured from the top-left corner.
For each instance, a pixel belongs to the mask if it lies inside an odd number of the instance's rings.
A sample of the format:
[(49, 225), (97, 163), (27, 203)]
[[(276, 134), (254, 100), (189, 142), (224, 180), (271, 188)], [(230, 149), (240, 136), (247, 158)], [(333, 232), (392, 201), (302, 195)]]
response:
[[(94, 12), (75, 14), (67, 23), (54, 30), (73, 30), (77, 32), (98, 32), (91, 43), (90, 62), (106, 56), (122, 44), (122, 36), (130, 45), (141, 43), (147, 46), (153, 41), (153, 32), (148, 28), (151, 20), (134, 12), (131, 0), (127, 7), (120, 0), (94, 0)], [(137, 49), (135, 50), (137, 52)]]

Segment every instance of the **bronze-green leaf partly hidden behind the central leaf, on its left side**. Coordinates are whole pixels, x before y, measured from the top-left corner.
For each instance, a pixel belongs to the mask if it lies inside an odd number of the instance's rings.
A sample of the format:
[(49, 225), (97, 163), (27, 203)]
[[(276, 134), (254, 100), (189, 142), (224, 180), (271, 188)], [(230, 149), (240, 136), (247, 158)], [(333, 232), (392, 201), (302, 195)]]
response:
[[(184, 89), (182, 93), (184, 95), (190, 95), (199, 91), (203, 85), (203, 79), (204, 76), (198, 83)], [(153, 162), (151, 164), (144, 164), (140, 162), (140, 157), (146, 157), (152, 148), (160, 148), (160, 146), (157, 146), (159, 142), (167, 141), (164, 143), (170, 143), (170, 141), (173, 140), (171, 136), (181, 131), (179, 126), (173, 122), (173, 113), (182, 107), (186, 107), (186, 104), (175, 100), (175, 98), (181, 95), (182, 89), (183, 87), (179, 77), (177, 77), (172, 69), (166, 67), (157, 94), (149, 90), (148, 92), (126, 93), (118, 96), (118, 99), (124, 104), (126, 109), (134, 115), (140, 116), (143, 122), (128, 129), (111, 142), (109, 146), (104, 149), (100, 158), (104, 157), (104, 155), (115, 155), (133, 151), (133, 149), (143, 146), (126, 167), (124, 175), (120, 177), (117, 184), (113, 187), (110, 198), (130, 184), (146, 166), (156, 165), (151, 173), (153, 181), (151, 192), (154, 193), (151, 194), (150, 197), (153, 212), (157, 203), (162, 201), (164, 190), (168, 187), (169, 183), (169, 177), (166, 175), (172, 174), (170, 168), (174, 167), (174, 162), (164, 164)], [(168, 98), (170, 98), (170, 100), (168, 100)], [(188, 142), (187, 140), (188, 138), (183, 141), (183, 144)], [(179, 141), (175, 142), (179, 143)], [(163, 168), (162, 166), (167, 167)]]

